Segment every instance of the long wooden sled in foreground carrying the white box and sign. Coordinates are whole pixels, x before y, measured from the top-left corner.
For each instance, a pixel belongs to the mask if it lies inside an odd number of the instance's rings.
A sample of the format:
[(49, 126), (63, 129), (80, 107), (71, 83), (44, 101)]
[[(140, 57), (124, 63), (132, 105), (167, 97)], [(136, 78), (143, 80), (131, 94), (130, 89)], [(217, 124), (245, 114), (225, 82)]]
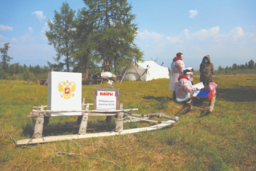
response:
[[(27, 145), (27, 144), (37, 144), (37, 143), (48, 143), (53, 141), (64, 141), (64, 140), (74, 140), (74, 139), (86, 139), (90, 137), (102, 137), (102, 136), (114, 136), (120, 134), (133, 134), (135, 132), (142, 132), (142, 131), (151, 131), (161, 129), (167, 126), (170, 126), (172, 123), (179, 122), (178, 117), (168, 116), (160, 113), (153, 113), (148, 115), (135, 115), (132, 111), (138, 109), (122, 109), (122, 104), (119, 110), (89, 110), (89, 106), (93, 105), (91, 103), (84, 103), (84, 99), (82, 101), (82, 110), (77, 111), (51, 111), (51, 110), (44, 110), (44, 107), (34, 107), (34, 110), (27, 115), (28, 118), (32, 118), (32, 127), (34, 128), (34, 134), (30, 139), (23, 139), (16, 141), (17, 145)], [(40, 110), (39, 110), (40, 108)], [(55, 127), (68, 127), (67, 125), (63, 126), (49, 126), (48, 121), (51, 117), (51, 114), (59, 113), (59, 112), (77, 112), (77, 115), (72, 116), (79, 116), (78, 122), (79, 124), (76, 127), (79, 127), (78, 134), (75, 135), (60, 135), (60, 136), (46, 136), (43, 137), (43, 129), (44, 128), (55, 128)], [(67, 115), (65, 115), (67, 116)], [(105, 123), (88, 123), (88, 117), (91, 116), (106, 116)], [(99, 132), (99, 133), (92, 133), (86, 134), (86, 129), (89, 124), (108, 124), (111, 123), (111, 118), (114, 116), (117, 118), (115, 122), (115, 130), (111, 132)], [(143, 118), (137, 118), (134, 116), (141, 116)], [(150, 118), (158, 117), (158, 118), (165, 118), (169, 119), (166, 122), (150, 120)], [(129, 120), (125, 120), (129, 119)], [(123, 123), (125, 122), (138, 122), (138, 121), (147, 121), (147, 122), (155, 122), (159, 123), (156, 125), (143, 127), (143, 128), (134, 128), (129, 130), (123, 130)]]

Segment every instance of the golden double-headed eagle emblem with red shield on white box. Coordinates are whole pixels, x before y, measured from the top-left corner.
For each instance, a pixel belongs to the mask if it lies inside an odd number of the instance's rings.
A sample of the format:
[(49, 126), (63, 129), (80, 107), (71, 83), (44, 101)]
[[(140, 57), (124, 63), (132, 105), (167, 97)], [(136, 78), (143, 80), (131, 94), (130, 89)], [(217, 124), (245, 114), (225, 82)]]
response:
[(69, 82), (68, 80), (61, 81), (59, 82), (58, 88), (60, 96), (64, 99), (69, 99), (75, 95), (74, 91), (76, 90), (76, 84), (75, 82)]

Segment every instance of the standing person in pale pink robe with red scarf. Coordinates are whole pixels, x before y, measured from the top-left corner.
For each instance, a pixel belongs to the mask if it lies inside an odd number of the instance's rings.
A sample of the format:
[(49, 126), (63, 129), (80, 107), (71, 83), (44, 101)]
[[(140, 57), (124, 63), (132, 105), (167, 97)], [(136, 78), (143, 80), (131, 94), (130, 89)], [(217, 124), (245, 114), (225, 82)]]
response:
[(171, 64), (171, 76), (170, 76), (170, 84), (169, 84), (169, 91), (174, 91), (173, 98), (176, 100), (176, 87), (178, 78), (180, 75), (183, 74), (183, 71), (185, 70), (185, 64), (182, 61), (183, 60), (183, 53), (179, 52), (176, 54), (176, 57), (172, 61)]

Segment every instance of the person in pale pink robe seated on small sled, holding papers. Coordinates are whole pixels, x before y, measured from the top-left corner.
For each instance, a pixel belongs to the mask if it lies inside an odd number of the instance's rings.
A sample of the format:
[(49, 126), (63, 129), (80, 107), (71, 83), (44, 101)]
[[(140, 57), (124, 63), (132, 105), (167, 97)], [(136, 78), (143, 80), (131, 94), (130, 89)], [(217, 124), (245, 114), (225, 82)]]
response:
[(200, 90), (192, 86), (191, 81), (191, 70), (184, 70), (183, 75), (180, 75), (178, 78), (178, 83), (176, 87), (176, 101), (184, 102), (191, 99), (192, 91)]

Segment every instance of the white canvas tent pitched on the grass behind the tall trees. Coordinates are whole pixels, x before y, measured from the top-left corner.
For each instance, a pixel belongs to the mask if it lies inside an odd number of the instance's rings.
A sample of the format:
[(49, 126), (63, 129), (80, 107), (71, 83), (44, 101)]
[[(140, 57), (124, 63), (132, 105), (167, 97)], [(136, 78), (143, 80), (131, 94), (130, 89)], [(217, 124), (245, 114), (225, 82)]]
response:
[(158, 78), (170, 78), (167, 67), (156, 64), (155, 61), (138, 62), (138, 66), (133, 61), (130, 65), (121, 68), (119, 71), (123, 80), (151, 81)]

